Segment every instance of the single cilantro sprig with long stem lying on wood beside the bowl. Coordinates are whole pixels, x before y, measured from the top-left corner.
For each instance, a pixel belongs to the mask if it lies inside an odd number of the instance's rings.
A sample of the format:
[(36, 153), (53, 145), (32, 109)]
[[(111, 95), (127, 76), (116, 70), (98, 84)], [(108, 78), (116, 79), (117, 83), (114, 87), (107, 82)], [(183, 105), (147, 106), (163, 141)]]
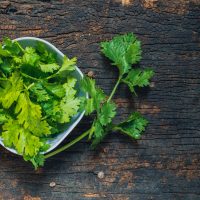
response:
[(107, 96), (96, 85), (94, 79), (84, 77), (82, 80), (82, 89), (89, 94), (89, 98), (83, 100), (83, 107), (86, 115), (96, 114), (93, 123), (86, 132), (60, 149), (45, 155), (45, 158), (68, 149), (85, 137), (88, 137), (88, 140), (92, 142), (93, 148), (107, 134), (112, 132), (119, 132), (136, 140), (141, 138), (148, 121), (139, 112), (133, 112), (119, 124), (113, 124), (112, 122), (117, 112), (117, 105), (112, 98), (119, 84), (126, 84), (130, 91), (136, 95), (135, 88), (148, 86), (150, 79), (154, 75), (152, 69), (147, 68), (142, 70), (134, 66), (142, 58), (141, 43), (133, 33), (128, 33), (116, 36), (111, 41), (102, 42), (101, 51), (104, 56), (111, 60), (112, 65), (119, 70), (119, 76), (112, 92)]

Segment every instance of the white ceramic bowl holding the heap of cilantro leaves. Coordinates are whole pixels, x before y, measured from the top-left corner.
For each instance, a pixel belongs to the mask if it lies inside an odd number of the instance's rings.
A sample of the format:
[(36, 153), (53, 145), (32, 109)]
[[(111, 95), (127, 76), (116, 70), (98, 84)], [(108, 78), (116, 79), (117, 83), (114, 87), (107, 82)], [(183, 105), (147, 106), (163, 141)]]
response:
[[(54, 45), (52, 45), (51, 43), (47, 42), (46, 40), (40, 39), (40, 38), (36, 38), (36, 37), (21, 37), (21, 38), (17, 38), (14, 41), (18, 41), (22, 47), (26, 47), (26, 46), (33, 46), (35, 47), (37, 45), (38, 42), (43, 43), (47, 50), (56, 53), (57, 55), (57, 60), (59, 63), (62, 62), (62, 59), (64, 57), (64, 54), (58, 50)], [(73, 72), (73, 76), (75, 78), (77, 78), (77, 96), (85, 96), (87, 97), (87, 94), (84, 94), (83, 92), (81, 92), (79, 89), (79, 84), (80, 84), (80, 80), (83, 77), (83, 73), (80, 71), (80, 69), (78, 67), (76, 67), (76, 70)], [(69, 134), (70, 132), (75, 128), (75, 126), (80, 122), (80, 120), (82, 119), (84, 115), (84, 111), (83, 112), (78, 112), (75, 116), (73, 116), (70, 120), (69, 123), (66, 124), (66, 130), (62, 133), (57, 134), (53, 139), (48, 140), (48, 144), (50, 144), (50, 148), (44, 152), (44, 153), (48, 153), (50, 151), (52, 151), (53, 149), (55, 149)], [(2, 140), (0, 139), (0, 144), (4, 146)], [(5, 147), (7, 150), (9, 150), (12, 153), (18, 154), (17, 151), (13, 148), (8, 148)]]

